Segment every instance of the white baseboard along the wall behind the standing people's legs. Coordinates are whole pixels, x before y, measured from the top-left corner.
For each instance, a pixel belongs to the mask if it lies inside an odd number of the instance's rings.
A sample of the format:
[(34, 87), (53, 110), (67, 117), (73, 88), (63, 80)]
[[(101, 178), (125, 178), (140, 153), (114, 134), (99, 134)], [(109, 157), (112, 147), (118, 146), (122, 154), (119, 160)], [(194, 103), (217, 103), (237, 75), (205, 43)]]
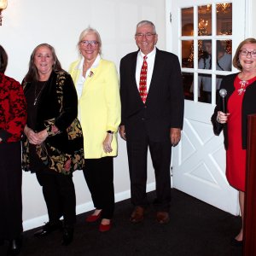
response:
[[(155, 183), (149, 183), (147, 185), (147, 192), (153, 191), (155, 189)], [(119, 192), (114, 195), (115, 196), (115, 201), (124, 201), (126, 199), (131, 198), (131, 190), (126, 190), (123, 192)], [(89, 212), (94, 209), (92, 201), (86, 202), (84, 204), (81, 204), (76, 207), (76, 212), (77, 214), (81, 214), (84, 212)], [(37, 218), (31, 218), (27, 219), (26, 221), (23, 222), (23, 230), (32, 230), (35, 229), (39, 226), (44, 225), (44, 223), (48, 222), (48, 215), (42, 215), (38, 216)]]

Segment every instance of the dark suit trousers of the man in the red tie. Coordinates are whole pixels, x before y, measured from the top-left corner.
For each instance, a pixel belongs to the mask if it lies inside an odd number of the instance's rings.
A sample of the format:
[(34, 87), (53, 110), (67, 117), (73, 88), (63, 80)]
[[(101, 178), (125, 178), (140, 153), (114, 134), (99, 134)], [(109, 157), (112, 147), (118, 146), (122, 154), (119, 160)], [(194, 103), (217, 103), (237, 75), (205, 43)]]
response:
[(171, 201), (171, 141), (155, 143), (150, 141), (147, 136), (142, 136), (137, 141), (129, 141), (127, 139), (131, 203), (140, 207), (148, 205), (146, 194), (148, 148), (154, 166), (155, 206), (158, 211), (168, 211)]

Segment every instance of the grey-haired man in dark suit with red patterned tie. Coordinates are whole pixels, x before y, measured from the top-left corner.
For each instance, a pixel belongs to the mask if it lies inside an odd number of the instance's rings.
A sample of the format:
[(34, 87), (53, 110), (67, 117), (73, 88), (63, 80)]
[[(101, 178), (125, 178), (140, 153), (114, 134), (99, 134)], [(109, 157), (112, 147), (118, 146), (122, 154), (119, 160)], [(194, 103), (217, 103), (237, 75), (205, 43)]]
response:
[(130, 218), (132, 223), (143, 221), (148, 205), (148, 148), (155, 173), (156, 219), (160, 224), (169, 221), (172, 146), (180, 141), (183, 128), (180, 64), (176, 55), (155, 47), (157, 39), (151, 21), (139, 22), (135, 34), (139, 50), (120, 61), (122, 120), (119, 134), (127, 143), (131, 203), (135, 206)]

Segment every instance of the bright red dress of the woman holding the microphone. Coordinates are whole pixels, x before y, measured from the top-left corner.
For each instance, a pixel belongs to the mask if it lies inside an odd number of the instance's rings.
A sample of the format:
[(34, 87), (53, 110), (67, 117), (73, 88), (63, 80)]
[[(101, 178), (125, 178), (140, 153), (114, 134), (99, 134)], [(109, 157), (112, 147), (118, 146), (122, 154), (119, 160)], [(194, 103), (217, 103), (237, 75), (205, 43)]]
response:
[(228, 150), (226, 154), (226, 177), (232, 187), (245, 191), (246, 177), (246, 149), (241, 148), (241, 103), (244, 91), (256, 78), (244, 82), (241, 88), (241, 79), (236, 76), (235, 90), (228, 101), (230, 113), (228, 119)]

